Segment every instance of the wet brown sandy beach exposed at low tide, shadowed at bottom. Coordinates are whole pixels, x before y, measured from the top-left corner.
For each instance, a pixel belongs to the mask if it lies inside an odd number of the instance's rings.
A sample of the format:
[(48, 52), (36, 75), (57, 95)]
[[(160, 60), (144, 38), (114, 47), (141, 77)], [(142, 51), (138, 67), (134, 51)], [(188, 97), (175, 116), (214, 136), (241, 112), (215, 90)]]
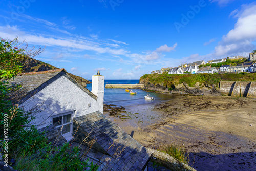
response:
[(178, 96), (125, 111), (104, 114), (146, 147), (185, 147), (197, 170), (256, 170), (255, 98)]

